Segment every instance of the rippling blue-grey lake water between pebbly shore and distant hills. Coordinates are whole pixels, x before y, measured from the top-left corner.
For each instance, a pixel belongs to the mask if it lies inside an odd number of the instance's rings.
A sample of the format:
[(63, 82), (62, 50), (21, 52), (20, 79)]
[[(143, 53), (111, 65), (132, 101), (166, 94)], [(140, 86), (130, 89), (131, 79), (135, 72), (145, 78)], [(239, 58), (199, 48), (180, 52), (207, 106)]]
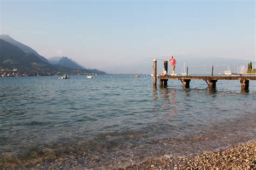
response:
[(0, 78), (0, 168), (60, 157), (123, 167), (163, 155), (213, 151), (256, 138), (256, 81), (178, 80), (150, 75)]

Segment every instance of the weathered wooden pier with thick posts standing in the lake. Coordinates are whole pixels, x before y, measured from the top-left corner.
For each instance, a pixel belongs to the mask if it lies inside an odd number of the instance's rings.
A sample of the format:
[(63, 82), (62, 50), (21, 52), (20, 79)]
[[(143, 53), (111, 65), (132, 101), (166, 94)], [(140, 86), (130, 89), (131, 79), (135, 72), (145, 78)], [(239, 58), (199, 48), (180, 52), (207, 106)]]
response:
[[(156, 70), (157, 61), (154, 60), (153, 62), (153, 80), (156, 80), (157, 77), (157, 70)], [(164, 61), (164, 68), (167, 70), (167, 61)], [(218, 80), (239, 80), (241, 83), (242, 90), (249, 89), (249, 81), (256, 80), (256, 76), (213, 76), (213, 66), (212, 66), (212, 76), (189, 76), (188, 75), (188, 68), (187, 68), (187, 75), (185, 76), (159, 76), (159, 84), (160, 86), (167, 86), (167, 81), (170, 79), (173, 80), (180, 80), (183, 83), (184, 88), (190, 88), (190, 81), (191, 80), (204, 80), (210, 89), (216, 88), (216, 82)], [(156, 86), (156, 81), (153, 83)]]

